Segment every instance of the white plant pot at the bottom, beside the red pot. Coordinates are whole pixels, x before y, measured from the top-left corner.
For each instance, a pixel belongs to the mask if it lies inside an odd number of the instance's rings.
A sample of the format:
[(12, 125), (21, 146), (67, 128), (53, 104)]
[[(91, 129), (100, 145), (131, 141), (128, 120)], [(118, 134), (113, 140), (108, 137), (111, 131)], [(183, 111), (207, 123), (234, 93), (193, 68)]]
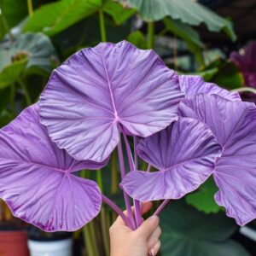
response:
[(72, 237), (57, 241), (29, 240), (30, 256), (73, 256)]

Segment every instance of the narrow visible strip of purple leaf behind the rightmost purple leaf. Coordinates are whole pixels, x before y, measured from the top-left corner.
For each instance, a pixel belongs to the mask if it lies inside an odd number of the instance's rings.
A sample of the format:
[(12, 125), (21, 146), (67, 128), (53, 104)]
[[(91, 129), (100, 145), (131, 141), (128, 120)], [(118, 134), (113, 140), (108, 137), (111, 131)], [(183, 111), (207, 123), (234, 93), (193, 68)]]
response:
[(178, 79), (180, 88), (186, 96), (193, 96), (199, 93), (217, 94), (230, 101), (241, 101), (238, 92), (230, 92), (218, 87), (217, 84), (207, 83), (200, 76), (181, 75)]

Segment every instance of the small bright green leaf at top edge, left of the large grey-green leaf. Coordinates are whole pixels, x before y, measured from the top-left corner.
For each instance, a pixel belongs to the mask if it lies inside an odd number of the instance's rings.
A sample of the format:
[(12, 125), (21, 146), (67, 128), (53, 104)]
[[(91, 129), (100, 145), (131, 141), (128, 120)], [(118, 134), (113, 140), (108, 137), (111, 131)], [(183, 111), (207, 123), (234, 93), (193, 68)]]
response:
[(136, 9), (128, 9), (122, 6), (118, 2), (113, 2), (113, 0), (107, 0), (104, 3), (102, 10), (112, 16), (114, 22), (117, 25), (122, 24), (125, 20), (128, 20), (132, 15), (136, 13)]

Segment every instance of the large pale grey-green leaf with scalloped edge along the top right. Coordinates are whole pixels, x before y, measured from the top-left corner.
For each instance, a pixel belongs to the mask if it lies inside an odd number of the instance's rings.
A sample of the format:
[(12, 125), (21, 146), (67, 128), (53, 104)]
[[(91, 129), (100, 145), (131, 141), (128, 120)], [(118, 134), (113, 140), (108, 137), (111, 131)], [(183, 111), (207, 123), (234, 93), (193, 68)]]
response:
[[(124, 2), (123, 0), (119, 0)], [(216, 15), (192, 0), (127, 0), (131, 7), (136, 8), (144, 20), (161, 20), (170, 16), (172, 20), (181, 20), (183, 23), (198, 26), (205, 23), (211, 32), (224, 32), (233, 40), (236, 34), (229, 20)]]

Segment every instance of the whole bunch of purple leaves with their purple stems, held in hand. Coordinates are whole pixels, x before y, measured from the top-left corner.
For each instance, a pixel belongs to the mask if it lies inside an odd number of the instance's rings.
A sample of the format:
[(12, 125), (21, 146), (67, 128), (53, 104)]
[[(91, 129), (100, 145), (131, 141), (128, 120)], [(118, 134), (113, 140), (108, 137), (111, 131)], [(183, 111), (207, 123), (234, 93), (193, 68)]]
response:
[[(78, 230), (102, 201), (135, 230), (142, 201), (164, 200), (159, 214), (212, 175), (218, 205), (243, 225), (256, 218), (255, 143), (253, 103), (178, 75), (153, 50), (98, 44), (56, 68), (40, 101), (0, 131), (0, 197), (16, 217), (49, 232)], [(106, 166), (114, 148), (127, 216), (96, 182), (75, 174)]]

